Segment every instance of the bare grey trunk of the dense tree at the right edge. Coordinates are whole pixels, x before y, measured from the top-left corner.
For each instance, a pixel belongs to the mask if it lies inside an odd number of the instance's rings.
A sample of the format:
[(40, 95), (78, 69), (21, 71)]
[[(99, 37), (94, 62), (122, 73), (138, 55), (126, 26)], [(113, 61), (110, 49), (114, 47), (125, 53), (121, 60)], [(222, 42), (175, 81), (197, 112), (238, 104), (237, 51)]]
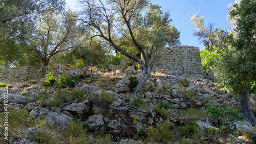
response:
[(251, 108), (249, 89), (244, 89), (240, 93), (240, 98), (241, 98), (241, 106), (243, 109), (244, 119), (247, 119), (251, 123), (251, 125), (255, 126), (256, 118), (254, 117), (252, 108)]

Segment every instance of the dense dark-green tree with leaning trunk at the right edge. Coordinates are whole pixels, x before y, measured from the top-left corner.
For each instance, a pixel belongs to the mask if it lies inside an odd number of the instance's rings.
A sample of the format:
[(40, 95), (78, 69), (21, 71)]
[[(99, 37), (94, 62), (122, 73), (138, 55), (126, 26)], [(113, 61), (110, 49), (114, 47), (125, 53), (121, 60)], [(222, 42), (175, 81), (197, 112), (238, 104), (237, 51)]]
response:
[(232, 49), (220, 60), (220, 73), (234, 91), (239, 93), (243, 116), (253, 126), (256, 118), (250, 104), (249, 88), (256, 80), (256, 1), (240, 0), (229, 5), (228, 20), (233, 23), (237, 39)]

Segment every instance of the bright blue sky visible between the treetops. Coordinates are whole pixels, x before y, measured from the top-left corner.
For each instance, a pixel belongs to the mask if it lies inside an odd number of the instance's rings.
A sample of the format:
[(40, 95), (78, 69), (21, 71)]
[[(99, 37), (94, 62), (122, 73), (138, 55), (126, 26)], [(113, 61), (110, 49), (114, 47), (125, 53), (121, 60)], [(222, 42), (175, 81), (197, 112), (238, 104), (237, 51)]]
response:
[[(67, 6), (75, 10), (77, 1), (66, 0)], [(191, 16), (198, 14), (204, 17), (205, 25), (209, 22), (215, 24), (215, 28), (228, 30), (231, 25), (227, 22), (228, 4), (234, 0), (151, 0), (151, 3), (157, 3), (162, 10), (170, 11), (170, 18), (173, 19), (171, 25), (174, 25), (180, 31), (181, 45), (189, 45), (204, 49), (204, 45), (198, 43), (198, 38), (193, 37), (194, 26), (189, 21)]]

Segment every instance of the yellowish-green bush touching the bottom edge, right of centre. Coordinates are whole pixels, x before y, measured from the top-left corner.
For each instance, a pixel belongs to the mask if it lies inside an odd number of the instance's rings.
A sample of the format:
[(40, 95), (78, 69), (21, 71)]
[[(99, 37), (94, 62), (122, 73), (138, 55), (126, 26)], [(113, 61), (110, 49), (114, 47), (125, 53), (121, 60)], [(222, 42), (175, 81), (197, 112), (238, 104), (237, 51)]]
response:
[(170, 130), (169, 120), (158, 125), (156, 129), (147, 128), (145, 133), (148, 136), (148, 139), (151, 139), (153, 142), (168, 143), (173, 139), (174, 132)]

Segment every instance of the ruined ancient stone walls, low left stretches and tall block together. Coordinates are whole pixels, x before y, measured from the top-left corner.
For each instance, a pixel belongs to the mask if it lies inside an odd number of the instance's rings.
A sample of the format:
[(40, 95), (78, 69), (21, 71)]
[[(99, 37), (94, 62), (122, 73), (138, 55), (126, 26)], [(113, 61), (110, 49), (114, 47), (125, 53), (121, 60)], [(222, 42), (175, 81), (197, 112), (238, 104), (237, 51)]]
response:
[[(110, 70), (120, 69), (125, 66), (122, 61), (120, 65), (110, 65)], [(160, 71), (169, 75), (184, 76), (188, 78), (204, 78), (199, 47), (194, 46), (172, 46), (165, 47), (162, 51), (162, 57), (153, 67), (152, 72)], [(83, 68), (73, 67), (69, 64), (51, 63), (47, 67), (46, 74), (49, 71), (54, 72), (55, 77), (62, 74), (63, 71), (74, 70), (83, 74)], [(28, 81), (39, 79), (41, 70), (36, 70), (29, 66), (20, 66), (15, 68), (5, 68), (0, 70), (0, 82), (7, 84), (19, 81)]]

